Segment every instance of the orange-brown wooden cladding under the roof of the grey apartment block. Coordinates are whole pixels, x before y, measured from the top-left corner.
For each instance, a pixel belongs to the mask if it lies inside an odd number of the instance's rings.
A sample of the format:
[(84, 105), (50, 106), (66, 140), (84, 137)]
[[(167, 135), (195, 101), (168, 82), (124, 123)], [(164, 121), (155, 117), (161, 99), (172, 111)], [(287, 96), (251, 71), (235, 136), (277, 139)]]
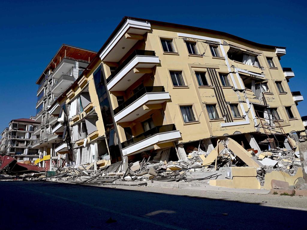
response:
[[(66, 55), (65, 55), (65, 52), (66, 52)], [(61, 60), (63, 60), (65, 56), (73, 58), (73, 59), (77, 59), (77, 60), (81, 59), (85, 61), (91, 61), (96, 56), (96, 52), (73, 47), (73, 46), (62, 45), (59, 51), (50, 61), (49, 65), (45, 68), (45, 71), (47, 71), (49, 68), (53, 71), (56, 68), (56, 66), (61, 62)], [(37, 80), (36, 84), (38, 84), (40, 79), (43, 76), (45, 76), (44, 72), (42, 73), (40, 78)]]

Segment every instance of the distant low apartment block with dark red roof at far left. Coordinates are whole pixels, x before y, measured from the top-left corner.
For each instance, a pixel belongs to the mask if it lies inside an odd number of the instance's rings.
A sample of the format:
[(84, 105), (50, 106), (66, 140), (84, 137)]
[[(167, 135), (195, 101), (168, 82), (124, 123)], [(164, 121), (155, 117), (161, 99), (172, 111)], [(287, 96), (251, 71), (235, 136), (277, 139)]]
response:
[[(33, 163), (38, 159), (37, 149), (33, 149), (34, 128), (38, 125), (34, 117), (14, 119), (9, 123), (7, 153), (17, 161)], [(2, 136), (3, 137), (3, 136)]]

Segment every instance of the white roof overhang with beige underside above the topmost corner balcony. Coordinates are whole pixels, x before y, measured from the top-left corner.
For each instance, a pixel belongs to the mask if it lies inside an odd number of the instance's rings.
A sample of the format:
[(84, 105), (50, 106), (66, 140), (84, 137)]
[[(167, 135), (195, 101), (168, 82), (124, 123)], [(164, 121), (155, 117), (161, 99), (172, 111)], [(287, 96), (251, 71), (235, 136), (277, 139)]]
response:
[(150, 31), (150, 22), (127, 19), (99, 54), (103, 61), (119, 62), (138, 40), (125, 38), (126, 33), (143, 35)]

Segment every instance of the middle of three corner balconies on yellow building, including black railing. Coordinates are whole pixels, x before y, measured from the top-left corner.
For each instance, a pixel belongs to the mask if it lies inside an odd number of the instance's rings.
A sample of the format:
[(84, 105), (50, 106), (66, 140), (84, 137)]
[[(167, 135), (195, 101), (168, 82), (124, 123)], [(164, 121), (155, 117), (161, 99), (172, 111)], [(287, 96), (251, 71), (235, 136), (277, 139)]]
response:
[(115, 122), (134, 121), (152, 109), (161, 109), (161, 104), (169, 99), (163, 86), (144, 87), (114, 109)]

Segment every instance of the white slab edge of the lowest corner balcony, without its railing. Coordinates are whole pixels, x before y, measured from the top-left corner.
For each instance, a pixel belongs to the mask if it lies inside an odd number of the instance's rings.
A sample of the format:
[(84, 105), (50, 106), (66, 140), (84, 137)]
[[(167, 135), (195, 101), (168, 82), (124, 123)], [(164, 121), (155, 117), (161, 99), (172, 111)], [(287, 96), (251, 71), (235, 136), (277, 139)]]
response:
[(155, 144), (170, 142), (180, 138), (181, 134), (179, 130), (157, 133), (126, 148), (123, 148), (122, 154), (126, 156), (137, 154), (142, 151), (148, 151), (153, 149)]

